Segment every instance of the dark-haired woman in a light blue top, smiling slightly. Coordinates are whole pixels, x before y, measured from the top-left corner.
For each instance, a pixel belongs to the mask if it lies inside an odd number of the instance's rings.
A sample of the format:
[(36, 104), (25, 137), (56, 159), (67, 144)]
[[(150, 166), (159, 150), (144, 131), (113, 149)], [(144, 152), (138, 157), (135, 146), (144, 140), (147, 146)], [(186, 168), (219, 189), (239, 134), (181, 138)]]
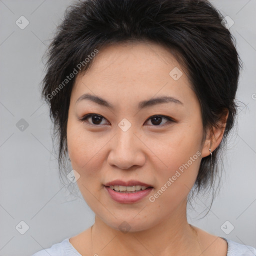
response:
[[(190, 225), (233, 125), (240, 60), (206, 0), (75, 3), (50, 45), (42, 95), (59, 166), (94, 224), (40, 255), (255, 255)], [(70, 177), (70, 173), (66, 173)]]

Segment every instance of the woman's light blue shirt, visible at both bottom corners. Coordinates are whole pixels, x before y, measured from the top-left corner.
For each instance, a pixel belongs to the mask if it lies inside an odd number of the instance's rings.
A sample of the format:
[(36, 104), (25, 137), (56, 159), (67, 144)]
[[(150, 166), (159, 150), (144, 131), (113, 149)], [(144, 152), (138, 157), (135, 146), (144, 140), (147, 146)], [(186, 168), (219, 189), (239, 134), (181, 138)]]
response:
[[(81, 256), (81, 254), (65, 238), (62, 242), (53, 244), (50, 248), (37, 251), (31, 256)], [(237, 243), (235, 241), (221, 237), (227, 242), (226, 256), (256, 256), (256, 249), (249, 245)], [(216, 255), (217, 256), (217, 255)]]

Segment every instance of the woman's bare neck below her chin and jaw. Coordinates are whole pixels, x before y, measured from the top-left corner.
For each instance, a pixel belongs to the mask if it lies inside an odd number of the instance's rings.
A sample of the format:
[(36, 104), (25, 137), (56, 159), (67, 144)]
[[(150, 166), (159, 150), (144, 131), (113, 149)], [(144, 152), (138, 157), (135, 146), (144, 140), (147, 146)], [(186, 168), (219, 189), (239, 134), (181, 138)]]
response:
[[(92, 254), (112, 255), (188, 255), (200, 252), (195, 231), (187, 223), (186, 205), (150, 228), (122, 232), (110, 227), (99, 217), (91, 228)], [(131, 223), (132, 225), (132, 223)], [(200, 254), (200, 253), (199, 253)]]

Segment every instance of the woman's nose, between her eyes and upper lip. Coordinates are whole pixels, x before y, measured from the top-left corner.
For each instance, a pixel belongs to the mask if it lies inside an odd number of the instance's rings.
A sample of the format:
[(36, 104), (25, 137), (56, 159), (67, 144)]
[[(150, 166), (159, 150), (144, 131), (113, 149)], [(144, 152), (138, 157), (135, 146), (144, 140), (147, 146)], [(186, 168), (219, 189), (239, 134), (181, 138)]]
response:
[(116, 135), (111, 140), (111, 149), (108, 154), (108, 164), (120, 169), (130, 169), (132, 166), (142, 166), (145, 163), (145, 154), (143, 148), (145, 145), (141, 142), (133, 130), (126, 131), (117, 129)]

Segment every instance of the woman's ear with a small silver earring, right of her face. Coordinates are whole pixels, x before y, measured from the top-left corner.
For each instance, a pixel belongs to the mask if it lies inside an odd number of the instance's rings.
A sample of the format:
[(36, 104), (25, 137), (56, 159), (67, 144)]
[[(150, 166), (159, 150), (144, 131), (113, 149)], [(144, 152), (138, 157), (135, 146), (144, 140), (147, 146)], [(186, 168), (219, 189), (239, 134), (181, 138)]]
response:
[(226, 109), (225, 111), (223, 111), (223, 114), (220, 117), (216, 127), (213, 127), (212, 129), (207, 129), (205, 140), (203, 142), (203, 147), (201, 150), (202, 157), (205, 157), (210, 154), (209, 148), (211, 152), (213, 152), (220, 144), (224, 134), (227, 117), (228, 110)]

